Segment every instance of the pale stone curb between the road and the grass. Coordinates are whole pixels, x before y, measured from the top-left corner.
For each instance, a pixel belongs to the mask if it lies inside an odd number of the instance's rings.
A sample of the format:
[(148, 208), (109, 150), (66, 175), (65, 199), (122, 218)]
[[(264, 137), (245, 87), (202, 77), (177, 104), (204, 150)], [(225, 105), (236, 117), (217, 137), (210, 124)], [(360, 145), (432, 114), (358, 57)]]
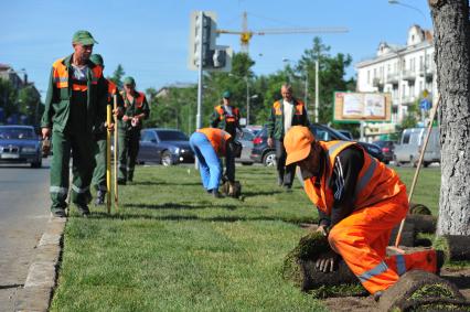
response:
[(51, 217), (38, 244), (28, 278), (14, 302), (17, 312), (45, 312), (56, 283), (66, 218)]

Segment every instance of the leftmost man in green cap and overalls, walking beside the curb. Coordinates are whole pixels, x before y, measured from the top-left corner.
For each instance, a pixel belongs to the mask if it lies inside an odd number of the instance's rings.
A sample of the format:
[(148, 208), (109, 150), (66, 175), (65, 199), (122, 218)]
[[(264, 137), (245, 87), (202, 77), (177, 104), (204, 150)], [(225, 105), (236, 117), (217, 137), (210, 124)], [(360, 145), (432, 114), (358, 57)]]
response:
[(89, 214), (89, 184), (95, 166), (93, 131), (106, 120), (107, 95), (102, 67), (89, 61), (95, 43), (88, 31), (75, 32), (73, 54), (52, 65), (41, 128), (44, 139), (52, 135), (50, 193), (51, 212), (56, 217), (65, 217), (71, 150), (71, 201), (82, 216)]

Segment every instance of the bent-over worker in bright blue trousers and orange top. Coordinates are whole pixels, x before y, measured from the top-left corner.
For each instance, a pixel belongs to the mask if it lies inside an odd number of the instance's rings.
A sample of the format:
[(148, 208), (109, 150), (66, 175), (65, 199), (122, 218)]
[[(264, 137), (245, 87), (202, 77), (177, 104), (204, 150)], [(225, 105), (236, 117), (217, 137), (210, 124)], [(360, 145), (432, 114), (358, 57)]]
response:
[[(199, 171), (204, 189), (214, 197), (221, 197), (218, 183), (222, 177), (220, 157), (225, 157), (226, 176), (231, 189), (235, 181), (235, 160), (233, 158), (228, 132), (215, 128), (202, 128), (190, 138), (190, 146), (197, 158)], [(229, 191), (231, 193), (231, 191)]]

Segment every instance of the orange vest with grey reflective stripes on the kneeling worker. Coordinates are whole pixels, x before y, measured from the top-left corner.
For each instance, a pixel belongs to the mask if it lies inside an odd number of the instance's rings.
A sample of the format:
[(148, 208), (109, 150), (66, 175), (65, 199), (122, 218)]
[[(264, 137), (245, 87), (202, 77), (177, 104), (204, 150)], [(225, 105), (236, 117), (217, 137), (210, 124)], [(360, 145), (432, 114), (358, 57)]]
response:
[[(330, 187), (330, 180), (333, 174), (337, 155), (350, 146), (359, 146), (348, 141), (318, 141), (318, 143), (328, 154), (327, 164), (323, 169), (320, 186), (314, 186), (317, 177), (313, 176), (305, 181), (305, 190), (319, 209), (327, 215), (331, 215), (334, 197), (333, 190)], [(354, 211), (391, 198), (405, 187), (395, 171), (371, 157), (362, 148), (361, 150), (364, 154), (364, 164), (359, 173), (355, 186)]]

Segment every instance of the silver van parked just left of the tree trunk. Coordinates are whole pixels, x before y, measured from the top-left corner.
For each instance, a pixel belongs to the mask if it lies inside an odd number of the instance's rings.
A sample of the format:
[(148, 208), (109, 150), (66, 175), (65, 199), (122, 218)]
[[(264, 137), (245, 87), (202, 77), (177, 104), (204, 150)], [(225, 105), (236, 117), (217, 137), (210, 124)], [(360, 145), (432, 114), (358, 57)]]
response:
[[(399, 144), (396, 146), (394, 160), (396, 165), (412, 163), (418, 164), (419, 153), (426, 138), (427, 128), (409, 128), (402, 133)], [(440, 138), (439, 129), (434, 127), (423, 159), (423, 165), (428, 166), (431, 162), (440, 162)]]

